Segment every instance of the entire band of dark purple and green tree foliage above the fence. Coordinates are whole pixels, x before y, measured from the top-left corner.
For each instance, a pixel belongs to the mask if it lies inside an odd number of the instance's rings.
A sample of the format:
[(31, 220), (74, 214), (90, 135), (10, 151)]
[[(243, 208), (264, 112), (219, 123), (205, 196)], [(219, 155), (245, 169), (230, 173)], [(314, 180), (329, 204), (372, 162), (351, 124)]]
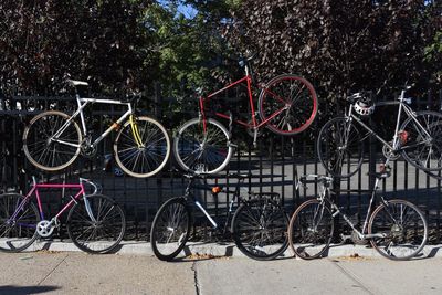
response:
[(3, 0), (0, 87), (56, 92), (70, 75), (102, 93), (156, 82), (176, 96), (225, 78), (238, 66), (217, 65), (246, 50), (260, 54), (262, 82), (298, 73), (323, 96), (406, 81), (440, 87), (441, 7), (428, 0)]

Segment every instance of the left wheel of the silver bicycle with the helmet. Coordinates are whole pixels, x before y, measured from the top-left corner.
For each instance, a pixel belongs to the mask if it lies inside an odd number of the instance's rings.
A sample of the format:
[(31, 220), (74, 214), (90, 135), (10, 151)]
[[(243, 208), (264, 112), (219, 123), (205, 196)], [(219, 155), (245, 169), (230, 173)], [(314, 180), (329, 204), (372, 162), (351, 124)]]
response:
[(334, 177), (350, 177), (362, 165), (364, 143), (356, 126), (344, 117), (333, 118), (319, 131), (317, 152)]

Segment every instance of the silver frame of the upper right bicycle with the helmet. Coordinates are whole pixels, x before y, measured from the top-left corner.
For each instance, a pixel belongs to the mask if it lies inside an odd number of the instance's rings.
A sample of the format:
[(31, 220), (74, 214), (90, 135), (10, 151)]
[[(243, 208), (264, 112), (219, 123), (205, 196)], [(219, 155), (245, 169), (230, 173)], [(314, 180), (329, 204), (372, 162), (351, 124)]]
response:
[(401, 116), (402, 116), (402, 110), (406, 113), (406, 115), (408, 117), (411, 117), (413, 119), (413, 122), (419, 126), (419, 128), (421, 129), (421, 131), (423, 133), (424, 137), (428, 138), (430, 137), (430, 135), (428, 134), (428, 131), (425, 130), (425, 128), (417, 120), (417, 116), (415, 116), (415, 112), (413, 112), (411, 109), (411, 107), (409, 107), (406, 104), (407, 98), (404, 98), (404, 93), (406, 91), (401, 92), (400, 97), (398, 98), (398, 101), (391, 101), (391, 102), (380, 102), (378, 104), (375, 104), (376, 106), (386, 106), (386, 105), (399, 105), (399, 109), (398, 109), (398, 117), (397, 117), (397, 122), (396, 122), (396, 128), (394, 128), (394, 136), (393, 136), (393, 140), (392, 140), (392, 145), (390, 145), (389, 141), (387, 141), (386, 139), (383, 139), (382, 137), (380, 137), (375, 130), (372, 130), (369, 126), (367, 126), (358, 116), (356, 116), (352, 113), (354, 109), (354, 105), (350, 105), (350, 108), (346, 115), (346, 118), (348, 120), (356, 120), (361, 127), (364, 127), (368, 134), (366, 137), (362, 138), (362, 140), (365, 140), (367, 137), (369, 136), (375, 136), (376, 139), (378, 139), (379, 141), (381, 141), (385, 146), (387, 146), (389, 149), (391, 150), (400, 150), (400, 144), (399, 144), (399, 127), (400, 127), (400, 122), (401, 122)]

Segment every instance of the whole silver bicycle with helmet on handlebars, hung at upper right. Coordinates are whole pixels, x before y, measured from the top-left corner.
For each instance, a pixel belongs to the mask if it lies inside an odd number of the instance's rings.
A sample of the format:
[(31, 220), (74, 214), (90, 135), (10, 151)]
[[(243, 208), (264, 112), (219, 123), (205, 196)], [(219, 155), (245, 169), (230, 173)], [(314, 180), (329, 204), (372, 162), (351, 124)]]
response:
[[(396, 160), (402, 156), (406, 161), (423, 171), (435, 172), (442, 169), (442, 114), (413, 112), (407, 105), (411, 103), (411, 98), (404, 97), (404, 94), (406, 89), (402, 89), (397, 101), (376, 104), (371, 104), (360, 93), (347, 98), (350, 103), (348, 113), (344, 117), (330, 119), (318, 135), (318, 157), (328, 173), (334, 177), (355, 175), (362, 165), (364, 140), (371, 135), (382, 143), (382, 154), (387, 159)], [(386, 105), (399, 106), (391, 141), (383, 139), (361, 119), (371, 115), (375, 107)], [(402, 113), (406, 119), (400, 125)], [(361, 135), (360, 129), (367, 133)]]

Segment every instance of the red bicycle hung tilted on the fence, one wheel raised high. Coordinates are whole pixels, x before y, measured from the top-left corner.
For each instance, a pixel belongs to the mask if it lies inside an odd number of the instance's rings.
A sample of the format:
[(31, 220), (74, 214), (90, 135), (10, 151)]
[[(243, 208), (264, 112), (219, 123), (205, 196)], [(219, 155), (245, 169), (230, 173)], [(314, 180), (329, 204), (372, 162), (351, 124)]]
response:
[[(255, 55), (241, 57), (239, 64), (245, 76), (207, 96), (199, 96), (199, 117), (186, 122), (173, 140), (173, 155), (178, 165), (189, 172), (217, 173), (229, 164), (234, 145), (231, 143), (232, 124), (251, 131), (256, 145), (259, 130), (265, 126), (278, 135), (304, 131), (316, 117), (318, 102), (313, 85), (292, 74), (278, 75), (261, 87), (255, 113), (252, 96), (253, 71), (250, 62)], [(232, 113), (214, 112), (214, 116), (229, 120), (229, 130), (214, 118), (208, 118), (204, 105), (215, 95), (240, 84), (246, 84), (250, 120), (234, 119)], [(260, 115), (261, 122), (256, 118)]]

